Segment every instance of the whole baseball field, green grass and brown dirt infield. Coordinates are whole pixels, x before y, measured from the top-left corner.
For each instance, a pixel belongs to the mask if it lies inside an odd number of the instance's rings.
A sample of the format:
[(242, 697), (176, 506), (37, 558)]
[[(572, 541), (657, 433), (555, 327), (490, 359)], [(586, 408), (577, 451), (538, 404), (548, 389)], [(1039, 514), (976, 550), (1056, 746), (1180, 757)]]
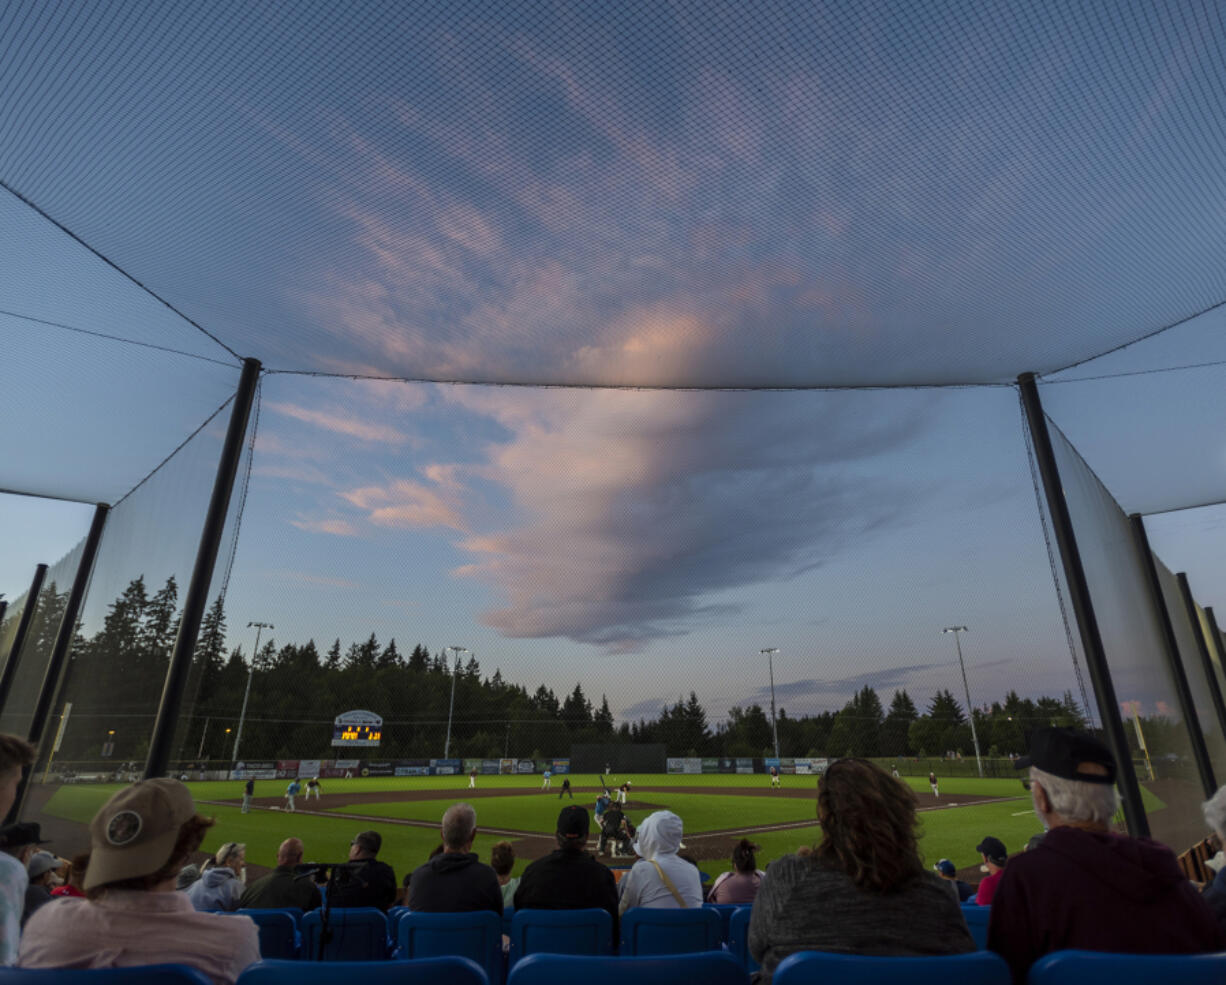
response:
[[(815, 822), (817, 776), (787, 775), (771, 789), (764, 775), (635, 775), (608, 776), (611, 784), (631, 781), (625, 813), (638, 824), (652, 811), (671, 810), (685, 826), (685, 845), (711, 876), (728, 867), (732, 845), (743, 837), (763, 846), (759, 865), (812, 845), (819, 838)], [(200, 811), (216, 818), (204, 844), (216, 850), (223, 841), (244, 841), (255, 872), (275, 865), (277, 845), (289, 835), (302, 838), (306, 859), (341, 861), (357, 832), (374, 828), (383, 834), (380, 857), (397, 876), (425, 861), (439, 843), (439, 819), (457, 801), (477, 810), (478, 838), (474, 850), (488, 857), (490, 845), (509, 840), (515, 846), (516, 873), (552, 850), (558, 810), (580, 803), (588, 810), (600, 794), (600, 778), (570, 778), (574, 800), (559, 799), (560, 778), (552, 790), (542, 790), (541, 776), (482, 775), (477, 789), (467, 776), (353, 778), (324, 781), (322, 796), (309, 802), (297, 799), (297, 810), (286, 810), (286, 780), (259, 780), (249, 813), (240, 810), (243, 784), (206, 781), (189, 784)], [(975, 845), (984, 835), (1003, 840), (1019, 851), (1038, 832), (1030, 796), (1016, 780), (950, 778), (934, 797), (921, 778), (906, 778), (920, 802), (920, 849), (928, 865), (948, 857), (973, 872), (980, 857)], [(118, 784), (72, 784), (45, 790), (40, 811), (32, 819), (69, 854), (87, 846), (85, 827)], [(595, 828), (595, 826), (593, 826)], [(74, 837), (75, 834), (75, 837)], [(81, 839), (80, 848), (67, 844)], [(595, 849), (595, 833), (591, 843)], [(607, 860), (612, 865), (625, 860)]]

